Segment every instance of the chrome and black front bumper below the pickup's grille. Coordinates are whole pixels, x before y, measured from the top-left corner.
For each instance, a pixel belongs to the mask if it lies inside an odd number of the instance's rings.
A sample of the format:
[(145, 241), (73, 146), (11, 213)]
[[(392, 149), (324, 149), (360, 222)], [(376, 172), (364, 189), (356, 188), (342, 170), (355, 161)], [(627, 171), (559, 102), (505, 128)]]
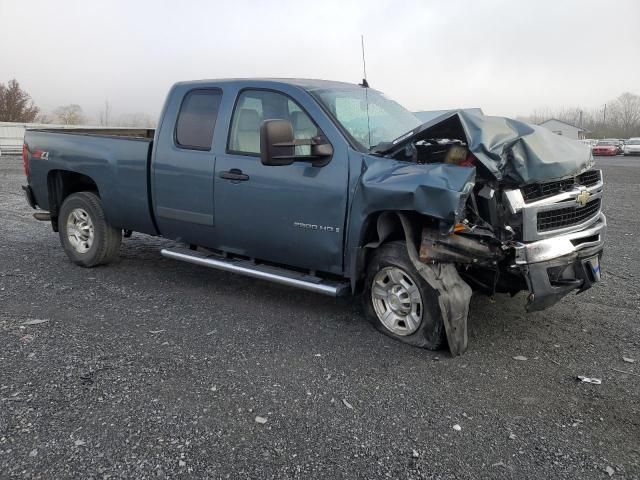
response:
[(543, 310), (568, 293), (578, 293), (600, 280), (600, 259), (607, 220), (578, 232), (515, 245), (515, 264), (529, 287), (527, 311)]

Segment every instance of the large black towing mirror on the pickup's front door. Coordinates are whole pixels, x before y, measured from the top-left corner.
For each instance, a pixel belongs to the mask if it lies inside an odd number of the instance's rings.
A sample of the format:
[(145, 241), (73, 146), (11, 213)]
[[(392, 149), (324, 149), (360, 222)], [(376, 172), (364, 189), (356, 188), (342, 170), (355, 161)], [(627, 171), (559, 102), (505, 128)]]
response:
[[(296, 155), (295, 147), (310, 145), (310, 155)], [(289, 120), (265, 120), (260, 127), (260, 160), (263, 165), (283, 166), (293, 162), (310, 162), (314, 167), (326, 165), (333, 147), (324, 137), (296, 140)]]

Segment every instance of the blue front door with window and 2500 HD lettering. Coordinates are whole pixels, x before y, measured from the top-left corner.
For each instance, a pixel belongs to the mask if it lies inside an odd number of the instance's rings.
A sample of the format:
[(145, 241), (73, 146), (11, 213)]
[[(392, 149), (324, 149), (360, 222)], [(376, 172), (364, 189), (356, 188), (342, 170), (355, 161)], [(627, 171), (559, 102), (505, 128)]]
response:
[[(298, 139), (324, 135), (292, 97), (246, 89), (236, 99), (226, 151), (216, 159), (214, 199), (220, 249), (252, 258), (342, 273), (347, 153), (330, 162), (266, 166), (260, 162), (265, 119), (291, 121)], [(336, 142), (337, 143), (337, 142)], [(309, 146), (296, 147), (301, 154)]]

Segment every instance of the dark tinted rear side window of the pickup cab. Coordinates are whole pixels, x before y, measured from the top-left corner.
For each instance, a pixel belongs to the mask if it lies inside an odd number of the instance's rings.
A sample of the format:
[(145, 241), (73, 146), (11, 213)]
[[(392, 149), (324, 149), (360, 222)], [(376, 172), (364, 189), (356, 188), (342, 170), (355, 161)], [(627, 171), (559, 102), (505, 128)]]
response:
[(220, 89), (191, 90), (184, 96), (176, 121), (176, 146), (211, 150), (221, 99)]

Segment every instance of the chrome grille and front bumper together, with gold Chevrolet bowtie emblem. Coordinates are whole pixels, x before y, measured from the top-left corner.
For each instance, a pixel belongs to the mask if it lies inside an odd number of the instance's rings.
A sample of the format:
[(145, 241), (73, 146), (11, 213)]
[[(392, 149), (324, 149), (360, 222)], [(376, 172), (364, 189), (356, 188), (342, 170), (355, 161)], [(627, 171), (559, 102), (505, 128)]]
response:
[(581, 293), (600, 280), (607, 228), (601, 212), (602, 173), (588, 170), (570, 180), (573, 186), (546, 198), (525, 199), (522, 190), (504, 194), (507, 208), (522, 221), (519, 238), (512, 244), (511, 268), (527, 280), (530, 312), (550, 307), (574, 290)]

